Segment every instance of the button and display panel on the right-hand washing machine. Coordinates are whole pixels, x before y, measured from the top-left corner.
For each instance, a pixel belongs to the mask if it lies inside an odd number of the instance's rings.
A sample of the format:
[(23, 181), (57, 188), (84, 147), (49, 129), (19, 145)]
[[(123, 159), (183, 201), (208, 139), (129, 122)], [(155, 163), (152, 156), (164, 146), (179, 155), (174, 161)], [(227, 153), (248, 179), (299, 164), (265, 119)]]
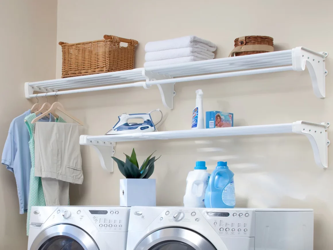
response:
[(254, 210), (203, 209), (201, 213), (220, 236), (254, 237)]

